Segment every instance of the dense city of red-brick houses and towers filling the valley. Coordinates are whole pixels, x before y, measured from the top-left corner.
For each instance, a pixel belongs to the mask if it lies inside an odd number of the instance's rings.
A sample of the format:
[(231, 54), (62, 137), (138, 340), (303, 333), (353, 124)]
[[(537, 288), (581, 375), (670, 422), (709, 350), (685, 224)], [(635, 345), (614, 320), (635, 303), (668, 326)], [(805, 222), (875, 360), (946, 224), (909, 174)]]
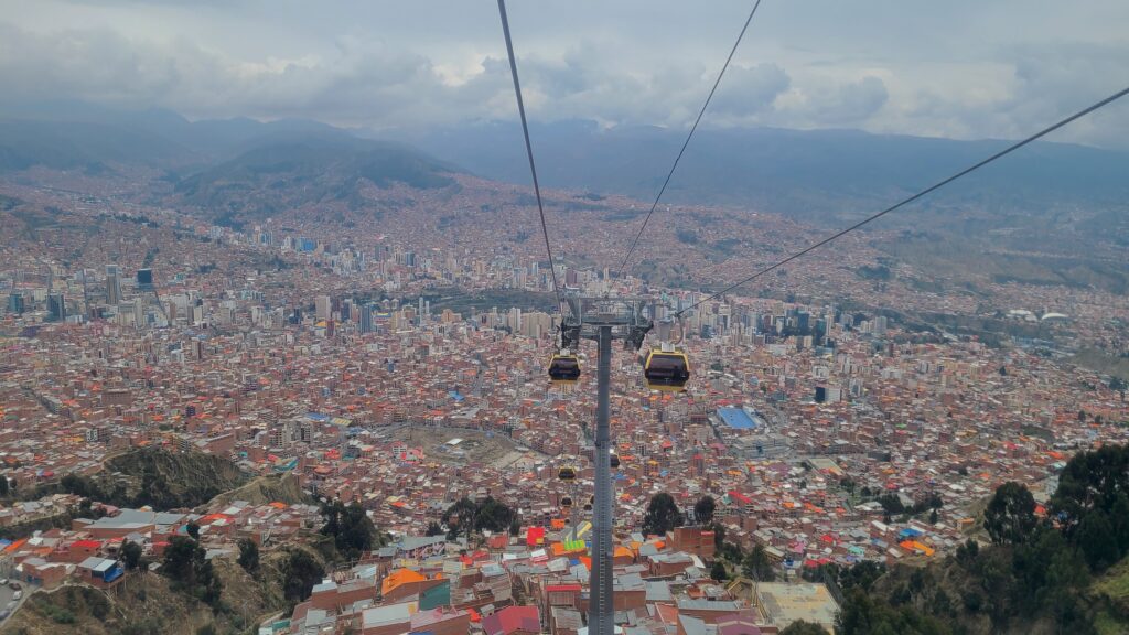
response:
[[(0, 562), (10, 579), (128, 584), (126, 543), (158, 563), (190, 527), (209, 562), (234, 562), (247, 540), (279, 551), (309, 543), (318, 502), (340, 501), (386, 540), (325, 572), (268, 632), (584, 629), (594, 377), (554, 388), (545, 376), (560, 318), (535, 242), (445, 221), (443, 201), (352, 233), (297, 215), (234, 229), (125, 205), (128, 193), (9, 186), (67, 210), (34, 242), (5, 229), (0, 458), (9, 488), (43, 493), (0, 508), (0, 527), (20, 532)], [(467, 181), (458, 208), (510, 195), (493, 188)], [(576, 227), (598, 226), (577, 214)], [(695, 214), (712, 215), (707, 232), (742, 232), (727, 212)], [(750, 245), (807, 232), (758, 218)], [(1045, 503), (1075, 451), (1129, 440), (1123, 384), (1067, 356), (1126, 346), (1123, 296), (1013, 282), (994, 289), (996, 307), (978, 306), (899, 281), (908, 270), (881, 284), (857, 275), (875, 255), (855, 240), (694, 306), (706, 294), (692, 285), (644, 280), (699, 258), (674, 232), (657, 234), (674, 241), (667, 255), (622, 278), (584, 263), (615, 238), (563, 234), (555, 273), (569, 289), (693, 306), (686, 392), (647, 391), (638, 355), (613, 357), (615, 609), (632, 633), (774, 633), (798, 619), (830, 629), (841, 597), (805, 571), (942, 558), (979, 529), (978, 506), (999, 485), (1026, 484)], [(929, 312), (991, 320), (1000, 338), (921, 328)], [(154, 447), (231, 461), (296, 497), (131, 508), (37, 490)], [(659, 494), (683, 521), (647, 534)], [(505, 504), (511, 527), (469, 541), (444, 521), (464, 497)], [(711, 517), (697, 517), (704, 497)], [(35, 524), (84, 498), (88, 516)], [(723, 545), (763, 554), (780, 582), (732, 563), (719, 575)]]

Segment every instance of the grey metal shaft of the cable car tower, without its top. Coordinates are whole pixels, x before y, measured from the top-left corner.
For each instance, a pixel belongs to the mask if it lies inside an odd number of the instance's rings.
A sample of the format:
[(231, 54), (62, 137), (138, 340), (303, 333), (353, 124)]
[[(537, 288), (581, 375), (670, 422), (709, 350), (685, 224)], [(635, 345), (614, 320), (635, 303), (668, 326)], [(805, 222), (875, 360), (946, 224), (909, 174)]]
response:
[(599, 365), (596, 386), (599, 399), (596, 406), (596, 503), (592, 517), (592, 577), (588, 582), (588, 633), (613, 635), (612, 621), (612, 475), (609, 447), (609, 391), (612, 375), (612, 327), (598, 327)]

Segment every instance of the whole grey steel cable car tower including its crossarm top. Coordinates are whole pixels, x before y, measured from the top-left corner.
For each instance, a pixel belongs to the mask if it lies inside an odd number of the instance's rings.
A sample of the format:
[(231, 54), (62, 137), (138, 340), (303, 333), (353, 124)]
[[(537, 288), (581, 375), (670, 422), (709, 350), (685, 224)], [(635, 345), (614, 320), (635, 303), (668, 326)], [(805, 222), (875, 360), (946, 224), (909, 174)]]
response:
[(561, 323), (564, 348), (576, 349), (578, 340), (590, 339), (598, 348), (596, 366), (596, 434), (593, 464), (596, 467), (595, 503), (592, 507), (592, 572), (588, 582), (588, 634), (613, 635), (612, 601), (612, 466), (609, 429), (612, 376), (612, 340), (639, 350), (651, 329), (644, 316), (644, 298), (566, 297), (571, 315)]

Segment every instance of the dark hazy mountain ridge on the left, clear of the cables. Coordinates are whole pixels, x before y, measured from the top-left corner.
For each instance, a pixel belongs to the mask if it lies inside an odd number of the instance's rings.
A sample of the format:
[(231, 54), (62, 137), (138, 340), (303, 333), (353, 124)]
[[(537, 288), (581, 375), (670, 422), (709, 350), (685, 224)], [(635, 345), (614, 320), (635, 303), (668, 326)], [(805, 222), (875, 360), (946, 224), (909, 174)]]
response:
[(95, 176), (125, 166), (155, 168), (173, 184), (165, 202), (233, 226), (310, 203), (362, 207), (368, 183), (445, 188), (454, 183), (450, 174), (464, 172), (406, 146), (314, 121), (190, 122), (172, 111), (73, 103), (0, 110), (0, 174), (35, 166)]

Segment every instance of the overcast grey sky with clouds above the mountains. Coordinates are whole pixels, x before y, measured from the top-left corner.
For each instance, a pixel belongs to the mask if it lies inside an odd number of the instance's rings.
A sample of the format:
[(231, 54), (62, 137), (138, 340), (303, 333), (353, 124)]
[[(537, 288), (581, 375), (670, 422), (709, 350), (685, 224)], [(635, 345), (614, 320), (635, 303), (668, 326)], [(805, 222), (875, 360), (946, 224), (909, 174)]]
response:
[[(536, 121), (684, 127), (746, 0), (510, 0)], [(0, 0), (8, 101), (374, 129), (516, 116), (493, 0)], [(707, 124), (1014, 138), (1129, 86), (1129, 1), (763, 0)], [(1129, 147), (1129, 98), (1058, 133)]]

